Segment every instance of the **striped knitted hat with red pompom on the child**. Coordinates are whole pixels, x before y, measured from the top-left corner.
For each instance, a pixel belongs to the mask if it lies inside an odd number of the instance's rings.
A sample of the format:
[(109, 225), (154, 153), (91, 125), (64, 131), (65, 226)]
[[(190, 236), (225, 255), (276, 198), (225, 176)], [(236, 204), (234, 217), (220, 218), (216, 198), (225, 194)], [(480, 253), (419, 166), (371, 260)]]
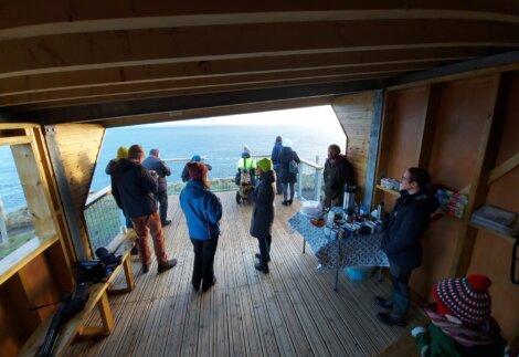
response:
[(490, 316), (491, 281), (485, 275), (445, 279), (436, 285), (438, 313), (452, 313), (464, 323), (478, 325)]

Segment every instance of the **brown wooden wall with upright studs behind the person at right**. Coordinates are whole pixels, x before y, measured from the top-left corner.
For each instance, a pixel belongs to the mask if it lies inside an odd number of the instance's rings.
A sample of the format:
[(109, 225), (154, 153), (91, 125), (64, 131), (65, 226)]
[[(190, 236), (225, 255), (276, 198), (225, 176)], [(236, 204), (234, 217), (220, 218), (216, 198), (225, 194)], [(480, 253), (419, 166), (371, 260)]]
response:
[[(504, 85), (509, 83), (511, 91)], [(485, 202), (519, 211), (517, 168), (487, 185), (489, 170), (519, 153), (518, 97), (518, 73), (390, 90), (375, 176), (379, 182), (382, 177), (400, 179), (407, 167), (422, 166), (433, 182), (469, 193), (462, 219), (433, 218), (423, 237), (424, 263), (413, 273), (411, 287), (433, 301), (434, 285), (442, 279), (488, 275), (494, 315), (507, 338), (519, 330), (519, 286), (509, 280), (512, 239), (473, 228), (469, 218)], [(379, 199), (391, 210), (396, 196), (379, 189), (374, 201)]]

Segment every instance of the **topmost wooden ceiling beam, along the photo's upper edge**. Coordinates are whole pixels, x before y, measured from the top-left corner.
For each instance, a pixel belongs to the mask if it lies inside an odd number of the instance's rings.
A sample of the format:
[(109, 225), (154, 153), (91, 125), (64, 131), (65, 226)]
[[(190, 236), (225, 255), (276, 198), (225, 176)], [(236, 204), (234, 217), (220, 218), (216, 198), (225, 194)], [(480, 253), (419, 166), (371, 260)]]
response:
[(0, 9), (0, 39), (192, 25), (378, 19), (466, 19), (517, 23), (519, 11), (513, 0), (184, 2), (9, 1)]

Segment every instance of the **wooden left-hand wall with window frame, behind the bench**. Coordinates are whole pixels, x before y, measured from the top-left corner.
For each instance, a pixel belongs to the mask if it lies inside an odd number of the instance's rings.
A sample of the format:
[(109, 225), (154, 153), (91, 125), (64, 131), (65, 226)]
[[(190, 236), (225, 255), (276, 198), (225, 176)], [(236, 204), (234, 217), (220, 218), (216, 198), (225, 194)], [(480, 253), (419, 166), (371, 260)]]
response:
[(1, 264), (0, 356), (15, 356), (32, 332), (56, 308), (70, 291), (73, 276), (66, 253), (67, 230), (59, 201), (43, 136), (36, 126), (27, 130), (30, 145), (11, 146), (28, 206), (35, 216), (38, 238)]

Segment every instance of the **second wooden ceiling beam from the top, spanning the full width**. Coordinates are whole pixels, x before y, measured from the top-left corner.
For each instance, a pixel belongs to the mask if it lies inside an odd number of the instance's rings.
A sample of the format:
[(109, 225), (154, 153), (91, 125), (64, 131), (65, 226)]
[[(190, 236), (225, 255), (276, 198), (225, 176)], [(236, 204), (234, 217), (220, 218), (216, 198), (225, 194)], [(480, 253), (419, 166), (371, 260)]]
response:
[(515, 48), (519, 46), (518, 39), (519, 25), (464, 20), (274, 23), (64, 34), (0, 42), (0, 78), (171, 63), (171, 59), (181, 63), (359, 50)]

